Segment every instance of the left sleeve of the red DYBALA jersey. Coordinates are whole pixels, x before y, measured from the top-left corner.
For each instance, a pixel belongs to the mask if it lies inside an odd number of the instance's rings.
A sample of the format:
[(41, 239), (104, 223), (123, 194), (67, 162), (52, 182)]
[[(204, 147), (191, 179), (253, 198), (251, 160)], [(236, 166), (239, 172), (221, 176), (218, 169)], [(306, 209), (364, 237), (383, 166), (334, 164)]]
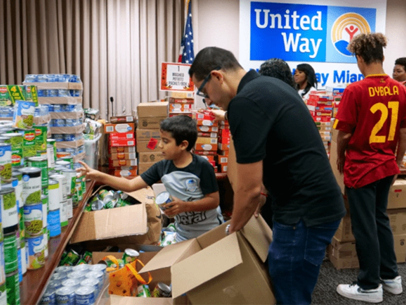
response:
[(357, 125), (358, 110), (356, 94), (352, 87), (344, 90), (343, 98), (340, 101), (339, 111), (334, 120), (333, 128), (346, 133), (353, 133)]

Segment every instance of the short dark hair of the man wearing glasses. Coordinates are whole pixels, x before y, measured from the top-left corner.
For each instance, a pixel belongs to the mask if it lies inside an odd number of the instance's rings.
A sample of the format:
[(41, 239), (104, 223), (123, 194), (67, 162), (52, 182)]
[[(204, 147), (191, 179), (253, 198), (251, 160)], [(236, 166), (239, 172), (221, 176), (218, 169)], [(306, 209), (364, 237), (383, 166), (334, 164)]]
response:
[(217, 67), (225, 71), (243, 69), (230, 51), (217, 47), (207, 47), (200, 50), (194, 57), (189, 75), (190, 77), (194, 75), (197, 80), (202, 80)]

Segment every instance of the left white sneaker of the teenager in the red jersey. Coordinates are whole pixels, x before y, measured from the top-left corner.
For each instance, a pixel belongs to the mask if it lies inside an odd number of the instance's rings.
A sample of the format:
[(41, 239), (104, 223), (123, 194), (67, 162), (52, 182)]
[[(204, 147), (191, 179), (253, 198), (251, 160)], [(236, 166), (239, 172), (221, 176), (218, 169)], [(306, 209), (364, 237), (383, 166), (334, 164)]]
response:
[(376, 289), (362, 289), (355, 282), (353, 284), (341, 284), (337, 286), (337, 293), (354, 300), (370, 303), (380, 303), (383, 301), (382, 284)]

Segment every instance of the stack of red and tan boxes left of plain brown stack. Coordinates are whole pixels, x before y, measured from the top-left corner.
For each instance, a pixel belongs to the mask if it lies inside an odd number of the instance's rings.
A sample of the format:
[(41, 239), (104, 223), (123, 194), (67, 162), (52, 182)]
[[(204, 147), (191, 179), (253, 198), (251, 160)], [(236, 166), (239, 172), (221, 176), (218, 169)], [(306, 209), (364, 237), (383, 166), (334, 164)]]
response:
[(104, 131), (109, 136), (109, 173), (118, 177), (134, 177), (137, 175), (134, 117), (111, 119), (116, 123), (104, 125)]

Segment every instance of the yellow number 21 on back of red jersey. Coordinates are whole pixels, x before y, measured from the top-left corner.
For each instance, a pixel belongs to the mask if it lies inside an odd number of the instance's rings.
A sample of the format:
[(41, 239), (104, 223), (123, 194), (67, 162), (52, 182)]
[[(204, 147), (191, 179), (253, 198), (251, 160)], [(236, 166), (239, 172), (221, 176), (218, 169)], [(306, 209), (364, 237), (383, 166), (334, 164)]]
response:
[(375, 124), (374, 128), (371, 131), (371, 135), (369, 136), (369, 144), (371, 143), (385, 143), (386, 136), (377, 136), (379, 131), (384, 126), (387, 118), (388, 118), (388, 108), (392, 109), (392, 115), (390, 118), (390, 127), (389, 127), (389, 135), (388, 141), (393, 141), (395, 138), (396, 133), (396, 124), (397, 124), (397, 114), (399, 112), (399, 102), (388, 102), (388, 107), (385, 104), (377, 103), (374, 104), (369, 110), (372, 113), (377, 112), (378, 110), (381, 111), (382, 115), (377, 124)]

